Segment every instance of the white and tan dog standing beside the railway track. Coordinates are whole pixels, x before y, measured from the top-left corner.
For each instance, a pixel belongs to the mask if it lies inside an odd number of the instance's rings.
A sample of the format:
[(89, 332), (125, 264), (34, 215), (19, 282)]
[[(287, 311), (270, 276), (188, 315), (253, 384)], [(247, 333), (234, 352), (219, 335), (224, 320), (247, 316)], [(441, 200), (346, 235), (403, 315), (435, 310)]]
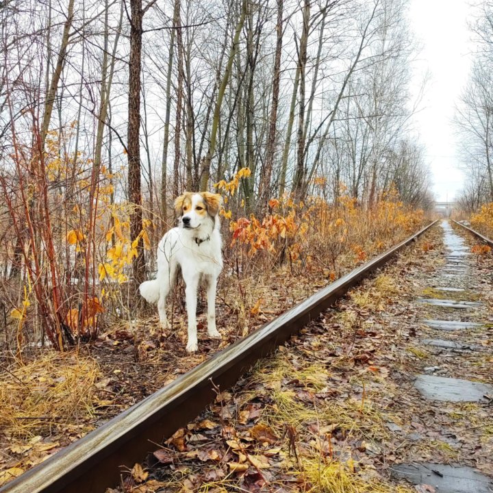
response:
[(173, 288), (177, 270), (186, 284), (188, 352), (197, 351), (197, 292), (207, 286), (207, 333), (221, 338), (216, 329), (216, 286), (223, 269), (218, 212), (219, 194), (185, 192), (175, 200), (179, 227), (170, 229), (157, 246), (157, 275), (139, 286), (149, 303), (157, 303), (160, 323), (168, 327), (166, 296)]

